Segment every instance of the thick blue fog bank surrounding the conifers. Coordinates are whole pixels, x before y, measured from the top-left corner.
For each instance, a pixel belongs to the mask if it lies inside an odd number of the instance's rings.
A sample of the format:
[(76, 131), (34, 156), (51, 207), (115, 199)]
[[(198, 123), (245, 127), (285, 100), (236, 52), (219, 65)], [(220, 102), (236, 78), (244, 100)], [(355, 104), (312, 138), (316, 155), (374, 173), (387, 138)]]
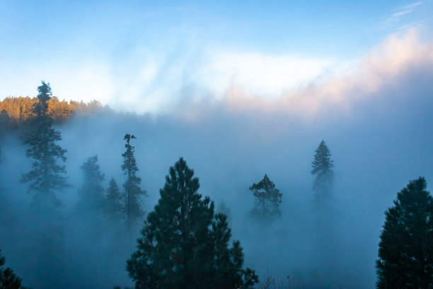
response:
[[(200, 179), (199, 192), (230, 208), (244, 266), (262, 280), (270, 273), (291, 288), (373, 288), (383, 212), (409, 180), (433, 181), (432, 77), (427, 65), (406, 69), (376, 91), (350, 91), (359, 95), (345, 108), (331, 103), (313, 115), (187, 99), (166, 115), (76, 115), (57, 126), (73, 185), (57, 193), (64, 203), (57, 215), (32, 209), (28, 187), (19, 182), (32, 160), (19, 133), (5, 135), (0, 246), (6, 265), (36, 289), (132, 286), (125, 263), (139, 233), (129, 236), (75, 207), (83, 183), (79, 166), (88, 157), (98, 155), (105, 188), (111, 178), (125, 182), (121, 154), (129, 132), (137, 137), (132, 145), (148, 195), (146, 212), (168, 168), (183, 157)], [(321, 140), (335, 164), (327, 210), (312, 202), (311, 162)], [(254, 201), (248, 187), (265, 174), (283, 196), (282, 216), (263, 226), (248, 217)]]

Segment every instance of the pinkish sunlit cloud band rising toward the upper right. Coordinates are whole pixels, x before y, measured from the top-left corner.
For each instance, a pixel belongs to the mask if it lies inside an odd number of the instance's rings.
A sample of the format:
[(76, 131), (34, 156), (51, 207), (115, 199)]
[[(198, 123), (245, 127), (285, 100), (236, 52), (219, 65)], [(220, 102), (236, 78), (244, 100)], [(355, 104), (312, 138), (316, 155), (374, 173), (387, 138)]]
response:
[[(391, 35), (374, 47), (349, 69), (325, 81), (311, 81), (308, 86), (288, 89), (276, 98), (250, 94), (243, 86), (231, 83), (224, 103), (233, 111), (282, 111), (309, 117), (329, 108), (350, 110), (359, 99), (369, 99), (388, 84), (398, 84), (398, 77), (413, 67), (433, 63), (433, 43), (423, 43), (416, 30), (405, 35)], [(331, 74), (332, 75), (332, 74)]]

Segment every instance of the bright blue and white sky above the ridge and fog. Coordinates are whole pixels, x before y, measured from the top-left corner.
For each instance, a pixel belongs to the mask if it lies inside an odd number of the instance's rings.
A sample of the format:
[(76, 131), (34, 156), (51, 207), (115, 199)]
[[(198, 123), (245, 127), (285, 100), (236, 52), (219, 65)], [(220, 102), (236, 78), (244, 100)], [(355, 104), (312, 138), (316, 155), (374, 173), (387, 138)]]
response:
[(43, 79), (59, 99), (116, 111), (230, 106), (233, 94), (280, 106), (432, 41), (433, 1), (293, 2), (5, 0), (0, 99), (35, 96)]

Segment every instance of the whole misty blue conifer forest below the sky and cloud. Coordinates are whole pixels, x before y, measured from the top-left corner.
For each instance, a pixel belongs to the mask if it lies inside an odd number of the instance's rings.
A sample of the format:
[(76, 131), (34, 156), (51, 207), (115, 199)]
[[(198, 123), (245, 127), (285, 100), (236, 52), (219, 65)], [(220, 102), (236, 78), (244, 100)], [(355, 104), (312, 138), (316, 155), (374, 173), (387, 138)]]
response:
[(403, 123), (366, 113), (371, 129), (193, 122), (42, 81), (0, 103), (0, 288), (431, 288), (423, 101)]

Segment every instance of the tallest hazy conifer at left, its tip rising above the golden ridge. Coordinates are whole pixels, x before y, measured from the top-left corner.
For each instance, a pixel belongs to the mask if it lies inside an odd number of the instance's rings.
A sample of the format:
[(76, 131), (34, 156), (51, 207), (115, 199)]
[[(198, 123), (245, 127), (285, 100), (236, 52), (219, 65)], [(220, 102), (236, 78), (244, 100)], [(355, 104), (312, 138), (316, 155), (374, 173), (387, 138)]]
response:
[(33, 121), (33, 133), (31, 133), (24, 144), (29, 145), (27, 156), (35, 159), (32, 169), (23, 174), (21, 181), (30, 183), (28, 191), (33, 191), (34, 203), (53, 205), (58, 207), (61, 202), (57, 198), (55, 191), (69, 186), (66, 177), (65, 166), (57, 164), (57, 160), (66, 161), (64, 154), (66, 149), (62, 149), (56, 142), (62, 140), (60, 132), (52, 127), (52, 119), (47, 115), (47, 101), (50, 100), (52, 93), (50, 84), (42, 81), (42, 85), (37, 87), (37, 102), (33, 108), (36, 118)]

